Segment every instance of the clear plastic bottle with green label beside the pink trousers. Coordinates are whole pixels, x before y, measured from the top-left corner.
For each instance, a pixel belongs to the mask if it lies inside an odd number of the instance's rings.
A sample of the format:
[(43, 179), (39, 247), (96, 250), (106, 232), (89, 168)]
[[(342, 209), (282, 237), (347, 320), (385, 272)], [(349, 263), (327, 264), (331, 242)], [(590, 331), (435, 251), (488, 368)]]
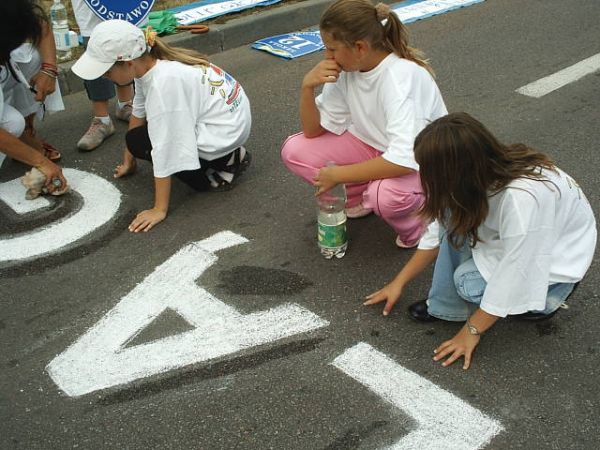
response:
[(346, 234), (346, 189), (338, 184), (318, 197), (318, 241), (321, 255), (341, 258), (348, 248)]

